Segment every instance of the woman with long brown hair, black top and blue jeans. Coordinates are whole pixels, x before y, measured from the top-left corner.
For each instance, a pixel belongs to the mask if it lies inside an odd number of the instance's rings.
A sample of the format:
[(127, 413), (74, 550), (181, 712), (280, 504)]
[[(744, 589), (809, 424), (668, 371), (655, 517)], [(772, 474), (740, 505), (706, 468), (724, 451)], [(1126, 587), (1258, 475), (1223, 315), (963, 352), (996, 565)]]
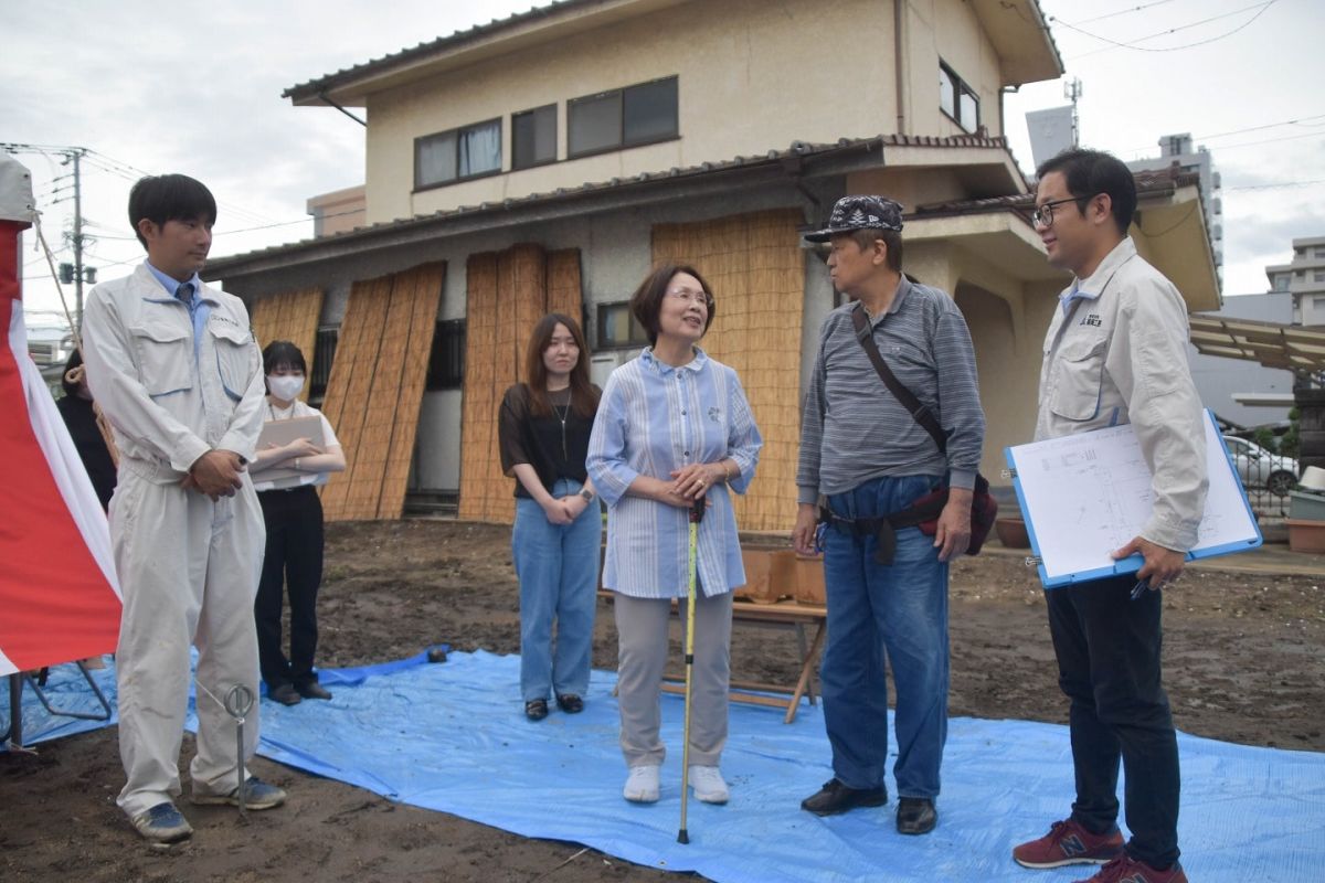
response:
[(542, 720), (549, 692), (566, 714), (584, 708), (603, 541), (584, 474), (599, 389), (588, 381), (588, 349), (574, 319), (551, 312), (538, 320), (525, 379), (506, 391), (497, 433), (502, 471), (515, 478), (519, 690), (525, 716)]

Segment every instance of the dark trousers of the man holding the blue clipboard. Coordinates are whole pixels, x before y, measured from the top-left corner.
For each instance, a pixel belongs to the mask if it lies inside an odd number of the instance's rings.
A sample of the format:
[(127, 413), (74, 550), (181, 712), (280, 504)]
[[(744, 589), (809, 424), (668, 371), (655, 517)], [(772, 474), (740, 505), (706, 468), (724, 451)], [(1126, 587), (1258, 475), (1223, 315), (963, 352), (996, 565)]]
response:
[(1128, 854), (1166, 868), (1178, 860), (1178, 739), (1161, 684), (1162, 593), (1133, 601), (1136, 582), (1117, 576), (1045, 597), (1059, 686), (1072, 703), (1072, 818), (1097, 834), (1113, 830), (1121, 757)]

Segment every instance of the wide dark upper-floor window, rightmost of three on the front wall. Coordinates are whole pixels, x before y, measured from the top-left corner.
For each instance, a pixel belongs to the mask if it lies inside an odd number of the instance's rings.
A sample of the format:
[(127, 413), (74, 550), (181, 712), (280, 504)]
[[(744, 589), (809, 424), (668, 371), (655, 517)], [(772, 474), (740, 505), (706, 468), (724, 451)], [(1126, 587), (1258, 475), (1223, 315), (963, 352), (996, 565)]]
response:
[(655, 79), (566, 103), (567, 155), (652, 144), (678, 135), (677, 78)]

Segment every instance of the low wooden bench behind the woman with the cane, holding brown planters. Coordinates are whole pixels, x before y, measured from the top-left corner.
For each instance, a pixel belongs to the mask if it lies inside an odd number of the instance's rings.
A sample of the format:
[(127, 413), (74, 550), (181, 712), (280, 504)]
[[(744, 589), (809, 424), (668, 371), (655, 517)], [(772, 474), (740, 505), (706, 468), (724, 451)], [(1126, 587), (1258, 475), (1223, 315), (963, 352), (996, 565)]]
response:
[[(599, 589), (599, 594), (607, 598), (612, 592)], [(678, 606), (672, 605), (673, 613)], [(828, 627), (828, 608), (822, 605), (798, 604), (796, 601), (778, 601), (776, 604), (754, 604), (751, 601), (735, 600), (731, 604), (731, 624), (739, 622), (775, 629), (794, 629), (796, 633), (796, 649), (800, 655), (800, 671), (795, 684), (772, 684), (751, 680), (731, 679), (731, 702), (741, 702), (751, 706), (767, 706), (772, 708), (786, 708), (783, 719), (791, 723), (796, 719), (802, 696), (810, 699), (810, 704), (816, 704), (814, 676), (815, 666), (819, 663), (819, 654), (823, 650), (824, 633)], [(806, 643), (806, 626), (814, 626), (814, 638)], [(684, 675), (665, 675), (662, 678), (665, 692), (684, 694)], [(770, 695), (772, 694), (772, 695)], [(780, 694), (780, 695), (779, 695)]]

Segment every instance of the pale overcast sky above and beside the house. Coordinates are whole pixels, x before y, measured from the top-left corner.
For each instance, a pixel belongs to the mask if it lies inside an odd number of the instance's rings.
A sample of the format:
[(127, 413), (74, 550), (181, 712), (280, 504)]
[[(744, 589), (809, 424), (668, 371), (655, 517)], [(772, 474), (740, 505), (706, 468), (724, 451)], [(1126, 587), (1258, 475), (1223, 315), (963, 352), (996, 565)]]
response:
[[(774, 3), (775, 0), (768, 0)], [(529, 0), (199, 3), (19, 0), (0, 5), (0, 142), (86, 147), (85, 261), (99, 278), (142, 258), (125, 207), (140, 173), (186, 171), (220, 204), (213, 256), (307, 238), (307, 197), (363, 183), (363, 128), (281, 93), (342, 68), (531, 8)], [(1224, 293), (1267, 287), (1291, 240), (1325, 234), (1325, 3), (1040, 0), (1068, 70), (1008, 95), (1007, 134), (1032, 158), (1024, 114), (1065, 103), (1081, 140), (1125, 160), (1191, 132), (1223, 176)], [(807, 33), (829, 60), (841, 34)], [(1128, 44), (1120, 46), (1116, 44)], [(779, 146), (770, 146), (779, 147)], [(24, 152), (46, 240), (72, 218), (58, 151)], [(24, 252), (25, 299), (58, 308), (45, 259)], [(69, 261), (70, 252), (57, 259)], [(70, 293), (72, 298), (72, 293)]]

